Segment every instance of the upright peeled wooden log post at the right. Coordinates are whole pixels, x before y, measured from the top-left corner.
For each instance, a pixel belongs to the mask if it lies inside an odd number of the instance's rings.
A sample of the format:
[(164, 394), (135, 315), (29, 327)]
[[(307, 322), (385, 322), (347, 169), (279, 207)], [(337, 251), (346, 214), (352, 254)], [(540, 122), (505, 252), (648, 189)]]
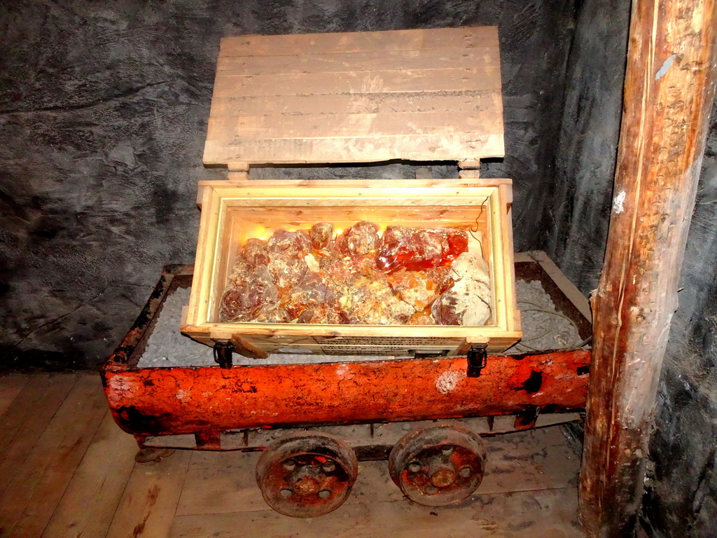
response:
[(580, 475), (589, 537), (630, 537), (714, 91), (716, 0), (635, 0)]

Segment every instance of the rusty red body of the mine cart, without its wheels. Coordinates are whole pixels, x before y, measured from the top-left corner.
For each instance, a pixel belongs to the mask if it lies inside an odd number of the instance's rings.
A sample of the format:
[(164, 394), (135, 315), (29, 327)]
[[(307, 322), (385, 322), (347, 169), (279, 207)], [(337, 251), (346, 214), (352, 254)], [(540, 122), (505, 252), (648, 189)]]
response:
[[(587, 338), (589, 320), (539, 263), (545, 260), (519, 257), (516, 275), (540, 279)], [(465, 357), (138, 367), (167, 294), (189, 285), (191, 266), (165, 268), (133, 329), (102, 368), (113, 417), (140, 445), (148, 438), (162, 445), (163, 436), (184, 435), (186, 448), (234, 449), (242, 447), (222, 445), (222, 433), (500, 415), (514, 415), (513, 427), (521, 430), (533, 428), (546, 413), (585, 407), (590, 362), (585, 349), (489, 356), (479, 377), (467, 377)], [(194, 444), (187, 435), (194, 436)]]

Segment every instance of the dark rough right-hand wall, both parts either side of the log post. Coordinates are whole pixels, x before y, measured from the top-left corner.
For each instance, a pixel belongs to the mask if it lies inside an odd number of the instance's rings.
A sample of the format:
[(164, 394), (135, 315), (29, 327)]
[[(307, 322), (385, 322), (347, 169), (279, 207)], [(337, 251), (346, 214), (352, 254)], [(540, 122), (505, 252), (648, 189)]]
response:
[[(548, 251), (588, 293), (607, 240), (630, 3), (584, 0), (569, 56)], [(717, 536), (717, 107), (657, 397), (642, 508), (650, 537)]]

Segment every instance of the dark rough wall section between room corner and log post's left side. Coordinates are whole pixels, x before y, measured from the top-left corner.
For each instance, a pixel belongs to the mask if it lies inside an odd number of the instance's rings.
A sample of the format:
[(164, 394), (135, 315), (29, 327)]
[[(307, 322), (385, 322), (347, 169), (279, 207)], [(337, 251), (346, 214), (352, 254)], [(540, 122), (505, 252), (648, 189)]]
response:
[(570, 51), (547, 252), (584, 293), (597, 288), (622, 116), (630, 1), (584, 0)]

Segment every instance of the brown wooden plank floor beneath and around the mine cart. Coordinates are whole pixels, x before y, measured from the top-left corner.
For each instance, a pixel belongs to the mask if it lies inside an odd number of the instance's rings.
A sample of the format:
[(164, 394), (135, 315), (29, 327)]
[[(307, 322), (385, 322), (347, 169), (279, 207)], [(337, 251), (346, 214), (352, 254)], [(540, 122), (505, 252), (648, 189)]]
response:
[(385, 461), (361, 463), (351, 497), (316, 519), (268, 509), (255, 453), (177, 451), (134, 463), (98, 374), (0, 374), (0, 537), (581, 537), (579, 460), (559, 427), (488, 438), (478, 492), (418, 506)]

